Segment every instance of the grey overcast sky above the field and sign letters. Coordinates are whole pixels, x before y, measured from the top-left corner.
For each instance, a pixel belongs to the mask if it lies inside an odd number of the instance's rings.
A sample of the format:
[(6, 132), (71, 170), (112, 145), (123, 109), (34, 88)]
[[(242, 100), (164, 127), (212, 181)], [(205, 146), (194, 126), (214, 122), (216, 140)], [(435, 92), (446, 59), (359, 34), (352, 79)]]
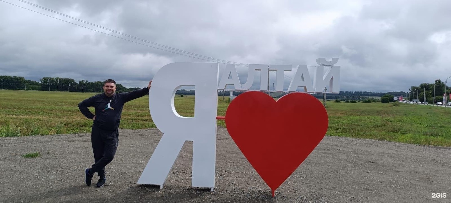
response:
[[(129, 88), (145, 87), (171, 62), (209, 62), (66, 14), (213, 61), (317, 65), (318, 57), (339, 58), (341, 91), (407, 92), (451, 76), (450, 0), (28, 0), (61, 14), (4, 1), (148, 46), (0, 1), (0, 75), (113, 78)], [(237, 69), (245, 83), (247, 68)]]

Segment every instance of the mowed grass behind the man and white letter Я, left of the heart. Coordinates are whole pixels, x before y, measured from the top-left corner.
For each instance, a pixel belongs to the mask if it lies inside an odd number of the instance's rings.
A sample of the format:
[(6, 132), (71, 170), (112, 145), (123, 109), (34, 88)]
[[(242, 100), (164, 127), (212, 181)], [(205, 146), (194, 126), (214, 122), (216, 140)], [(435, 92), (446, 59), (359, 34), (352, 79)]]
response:
[[(92, 120), (78, 103), (97, 93), (0, 90), (0, 137), (91, 132)], [(194, 116), (194, 96), (175, 97), (179, 115)], [(225, 115), (228, 102), (218, 100), (218, 115)], [(94, 113), (94, 107), (89, 107)], [(218, 125), (225, 126), (223, 120)], [(120, 128), (155, 128), (148, 95), (125, 103)]]

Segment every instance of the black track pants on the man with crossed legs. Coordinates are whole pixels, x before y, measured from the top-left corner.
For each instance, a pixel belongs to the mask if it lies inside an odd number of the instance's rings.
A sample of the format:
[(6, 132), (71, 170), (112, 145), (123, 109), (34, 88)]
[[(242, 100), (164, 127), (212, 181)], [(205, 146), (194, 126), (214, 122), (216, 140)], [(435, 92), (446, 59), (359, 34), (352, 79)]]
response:
[(119, 144), (119, 130), (106, 131), (92, 125), (91, 143), (95, 163), (91, 166), (90, 172), (104, 176), (105, 166), (113, 161)]

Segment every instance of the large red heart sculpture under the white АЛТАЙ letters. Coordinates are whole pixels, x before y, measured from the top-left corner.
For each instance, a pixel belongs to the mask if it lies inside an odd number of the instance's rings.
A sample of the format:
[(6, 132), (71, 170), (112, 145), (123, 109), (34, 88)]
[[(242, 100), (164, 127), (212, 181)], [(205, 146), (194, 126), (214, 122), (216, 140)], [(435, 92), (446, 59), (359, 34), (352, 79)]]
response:
[(263, 92), (244, 92), (226, 111), (227, 131), (272, 196), (321, 142), (328, 123), (322, 103), (301, 92), (277, 102)]

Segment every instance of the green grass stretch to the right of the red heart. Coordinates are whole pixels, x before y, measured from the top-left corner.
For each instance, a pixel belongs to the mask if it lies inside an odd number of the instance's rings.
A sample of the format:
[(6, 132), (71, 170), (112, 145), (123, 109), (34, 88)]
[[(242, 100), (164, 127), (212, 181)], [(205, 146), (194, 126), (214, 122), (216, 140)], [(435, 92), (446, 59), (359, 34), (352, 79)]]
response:
[(326, 103), (328, 135), (451, 146), (451, 108), (399, 103)]

